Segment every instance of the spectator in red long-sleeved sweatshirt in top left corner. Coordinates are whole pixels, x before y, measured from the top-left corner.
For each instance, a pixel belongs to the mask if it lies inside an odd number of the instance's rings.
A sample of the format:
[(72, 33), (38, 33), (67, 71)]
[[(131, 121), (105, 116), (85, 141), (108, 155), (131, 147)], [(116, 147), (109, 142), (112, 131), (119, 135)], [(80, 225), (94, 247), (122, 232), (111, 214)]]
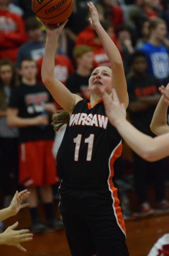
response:
[(28, 41), (22, 17), (7, 9), (8, 0), (0, 2), (0, 59), (9, 58), (13, 63), (21, 44)]

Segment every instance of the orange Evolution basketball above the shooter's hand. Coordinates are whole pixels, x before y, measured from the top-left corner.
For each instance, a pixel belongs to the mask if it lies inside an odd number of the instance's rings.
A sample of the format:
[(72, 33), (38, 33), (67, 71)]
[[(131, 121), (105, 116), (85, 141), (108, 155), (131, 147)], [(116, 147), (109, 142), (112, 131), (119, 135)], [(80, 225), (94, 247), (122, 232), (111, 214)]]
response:
[(74, 0), (32, 0), (35, 15), (44, 23), (59, 24), (72, 14)]

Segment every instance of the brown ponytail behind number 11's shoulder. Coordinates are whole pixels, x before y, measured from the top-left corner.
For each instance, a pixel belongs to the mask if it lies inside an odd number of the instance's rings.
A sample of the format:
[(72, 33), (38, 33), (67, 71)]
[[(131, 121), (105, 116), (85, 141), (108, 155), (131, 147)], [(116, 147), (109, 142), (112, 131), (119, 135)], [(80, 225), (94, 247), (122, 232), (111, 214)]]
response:
[(52, 117), (52, 125), (54, 126), (54, 131), (58, 131), (60, 127), (64, 124), (68, 124), (70, 119), (69, 113), (62, 109), (56, 112)]

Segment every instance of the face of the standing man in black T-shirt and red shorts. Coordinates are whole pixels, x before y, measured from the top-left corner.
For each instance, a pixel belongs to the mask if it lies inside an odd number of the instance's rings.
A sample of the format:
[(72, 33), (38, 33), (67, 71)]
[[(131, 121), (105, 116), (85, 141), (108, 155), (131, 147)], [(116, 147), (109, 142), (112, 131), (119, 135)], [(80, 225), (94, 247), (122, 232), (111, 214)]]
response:
[(20, 68), (20, 75), (27, 80), (36, 79), (37, 65), (35, 61), (23, 61)]

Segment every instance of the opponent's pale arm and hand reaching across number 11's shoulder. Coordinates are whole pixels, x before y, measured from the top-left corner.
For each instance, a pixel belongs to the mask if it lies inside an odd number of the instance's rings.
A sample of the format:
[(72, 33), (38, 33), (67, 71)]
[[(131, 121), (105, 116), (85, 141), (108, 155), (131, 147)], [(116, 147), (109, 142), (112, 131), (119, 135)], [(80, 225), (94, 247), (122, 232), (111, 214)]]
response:
[(115, 89), (112, 90), (112, 96), (102, 89), (102, 95), (109, 122), (117, 128), (133, 151), (152, 162), (169, 156), (169, 133), (155, 138), (143, 134), (126, 120), (124, 105), (120, 104)]

